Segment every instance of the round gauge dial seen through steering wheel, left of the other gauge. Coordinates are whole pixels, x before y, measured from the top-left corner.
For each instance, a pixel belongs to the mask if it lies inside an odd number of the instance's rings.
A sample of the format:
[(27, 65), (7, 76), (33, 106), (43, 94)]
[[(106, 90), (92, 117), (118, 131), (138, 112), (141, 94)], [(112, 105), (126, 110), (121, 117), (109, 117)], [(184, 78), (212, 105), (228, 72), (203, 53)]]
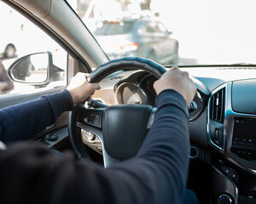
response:
[(119, 105), (147, 104), (148, 101), (143, 89), (131, 82), (125, 82), (119, 85), (119, 88), (116, 90), (116, 100)]

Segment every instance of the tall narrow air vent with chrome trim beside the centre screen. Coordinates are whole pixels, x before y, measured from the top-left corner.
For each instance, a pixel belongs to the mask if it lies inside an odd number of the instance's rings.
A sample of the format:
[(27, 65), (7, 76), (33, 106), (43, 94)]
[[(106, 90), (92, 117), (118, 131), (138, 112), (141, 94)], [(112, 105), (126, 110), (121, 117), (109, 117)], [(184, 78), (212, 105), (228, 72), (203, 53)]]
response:
[(225, 88), (220, 89), (212, 96), (210, 102), (210, 119), (215, 122), (224, 122)]

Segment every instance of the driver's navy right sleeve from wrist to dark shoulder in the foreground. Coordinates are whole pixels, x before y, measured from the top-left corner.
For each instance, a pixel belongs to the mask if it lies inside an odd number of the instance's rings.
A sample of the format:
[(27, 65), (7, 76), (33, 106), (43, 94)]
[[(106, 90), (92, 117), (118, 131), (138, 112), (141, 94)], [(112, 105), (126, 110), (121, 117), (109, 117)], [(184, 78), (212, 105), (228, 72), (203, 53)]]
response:
[(154, 125), (137, 156), (107, 169), (27, 144), (0, 150), (2, 201), (179, 204), (189, 166), (185, 100), (166, 90), (156, 104)]

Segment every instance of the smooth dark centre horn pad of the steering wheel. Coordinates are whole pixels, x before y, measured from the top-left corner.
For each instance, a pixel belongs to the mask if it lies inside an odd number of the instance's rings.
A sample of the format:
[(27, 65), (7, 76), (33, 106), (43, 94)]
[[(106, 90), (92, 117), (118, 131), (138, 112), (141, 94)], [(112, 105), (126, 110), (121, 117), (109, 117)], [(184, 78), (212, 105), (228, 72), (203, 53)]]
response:
[(104, 147), (110, 156), (125, 160), (137, 154), (148, 130), (151, 105), (113, 105), (103, 114)]

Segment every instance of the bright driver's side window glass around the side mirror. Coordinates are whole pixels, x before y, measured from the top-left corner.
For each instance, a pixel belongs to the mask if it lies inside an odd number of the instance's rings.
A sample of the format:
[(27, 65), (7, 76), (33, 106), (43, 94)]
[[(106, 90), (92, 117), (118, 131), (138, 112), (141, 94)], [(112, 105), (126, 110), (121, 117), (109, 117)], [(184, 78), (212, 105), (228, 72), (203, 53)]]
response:
[[(67, 52), (58, 43), (3, 2), (0, 2), (0, 23), (1, 97), (5, 94), (33, 93), (42, 90), (42, 88), (53, 88), (66, 84)], [(58, 70), (59, 77), (56, 77), (55, 81), (44, 83), (47, 73), (43, 71), (43, 65), (47, 66), (47, 61), (45, 60), (48, 59), (44, 58), (47, 54), (37, 54), (42, 52), (50, 53), (53, 61), (52, 67), (54, 66)], [(35, 55), (27, 57), (20, 62), (20, 70), (16, 69), (13, 76), (19, 76), (18, 79), (21, 81), (41, 82), (40, 85), (12, 82), (7, 76), (10, 65), (29, 54)]]

